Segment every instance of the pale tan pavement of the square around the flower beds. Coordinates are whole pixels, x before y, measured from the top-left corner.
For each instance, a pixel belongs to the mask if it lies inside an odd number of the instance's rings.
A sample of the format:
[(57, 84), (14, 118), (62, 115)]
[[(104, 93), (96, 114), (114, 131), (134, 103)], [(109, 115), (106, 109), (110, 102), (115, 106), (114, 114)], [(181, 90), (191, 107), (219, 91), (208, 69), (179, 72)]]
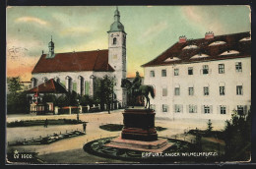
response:
[[(123, 110), (111, 111), (100, 113), (86, 113), (80, 114), (80, 120), (88, 122), (86, 133), (87, 135), (66, 139), (62, 141), (56, 141), (46, 145), (24, 145), (24, 146), (12, 146), (8, 149), (18, 149), (26, 151), (35, 151), (38, 154), (48, 154), (53, 152), (61, 152), (66, 150), (73, 150), (82, 148), (84, 143), (88, 141), (94, 141), (100, 138), (107, 138), (113, 136), (120, 136), (121, 132), (108, 132), (99, 129), (102, 124), (122, 124), (123, 123)], [(7, 122), (20, 121), (20, 120), (39, 120), (39, 119), (76, 119), (77, 115), (48, 115), (48, 116), (30, 116), (30, 115), (8, 115)], [(224, 122), (212, 121), (214, 130), (224, 129)], [(156, 118), (156, 126), (167, 128), (165, 131), (158, 132), (159, 137), (172, 137), (177, 139), (190, 141), (191, 138), (184, 137), (184, 132), (190, 129), (206, 129), (207, 120), (191, 120), (191, 119), (162, 119)], [(71, 130), (83, 130), (82, 124), (79, 125), (61, 125), (61, 126), (43, 126), (36, 127), (19, 127), (19, 128), (7, 128), (7, 141), (21, 141), (24, 139), (36, 139), (52, 135), (53, 133), (64, 133)]]

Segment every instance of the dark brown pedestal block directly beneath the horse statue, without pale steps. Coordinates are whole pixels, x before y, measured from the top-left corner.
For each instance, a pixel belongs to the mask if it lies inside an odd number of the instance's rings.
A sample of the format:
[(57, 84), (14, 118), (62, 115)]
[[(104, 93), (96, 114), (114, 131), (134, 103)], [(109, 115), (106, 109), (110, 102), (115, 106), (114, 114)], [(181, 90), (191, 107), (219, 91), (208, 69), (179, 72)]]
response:
[(133, 141), (158, 141), (152, 109), (125, 109), (121, 138)]

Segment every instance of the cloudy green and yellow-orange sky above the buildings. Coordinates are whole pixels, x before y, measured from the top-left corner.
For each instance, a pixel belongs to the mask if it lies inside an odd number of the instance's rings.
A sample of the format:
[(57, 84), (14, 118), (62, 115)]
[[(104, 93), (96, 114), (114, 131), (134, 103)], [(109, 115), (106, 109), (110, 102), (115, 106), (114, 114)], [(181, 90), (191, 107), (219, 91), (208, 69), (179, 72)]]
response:
[[(30, 81), (42, 50), (48, 52), (51, 35), (55, 53), (108, 48), (115, 6), (14, 6), (6, 9), (7, 77)], [(127, 33), (127, 77), (178, 41), (250, 31), (250, 8), (222, 6), (119, 6)]]

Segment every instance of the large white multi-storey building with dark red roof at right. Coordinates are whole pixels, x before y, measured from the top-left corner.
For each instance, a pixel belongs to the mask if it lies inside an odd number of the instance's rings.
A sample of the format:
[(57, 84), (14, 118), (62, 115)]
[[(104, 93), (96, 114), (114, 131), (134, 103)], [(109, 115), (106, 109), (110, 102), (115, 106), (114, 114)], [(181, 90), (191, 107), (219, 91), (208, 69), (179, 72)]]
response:
[(229, 119), (251, 105), (250, 32), (179, 41), (143, 65), (157, 117)]

